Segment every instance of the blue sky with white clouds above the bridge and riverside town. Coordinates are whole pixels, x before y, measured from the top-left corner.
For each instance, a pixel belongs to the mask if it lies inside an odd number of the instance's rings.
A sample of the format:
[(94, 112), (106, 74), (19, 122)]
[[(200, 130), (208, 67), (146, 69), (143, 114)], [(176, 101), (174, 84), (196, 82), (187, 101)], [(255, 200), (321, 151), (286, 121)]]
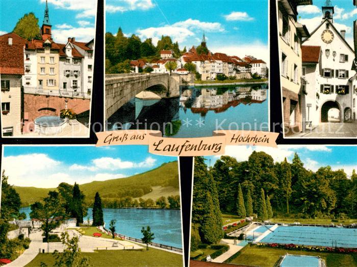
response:
[(106, 31), (136, 34), (142, 40), (161, 35), (180, 48), (199, 45), (203, 31), (212, 52), (268, 61), (268, 1), (107, 0)]

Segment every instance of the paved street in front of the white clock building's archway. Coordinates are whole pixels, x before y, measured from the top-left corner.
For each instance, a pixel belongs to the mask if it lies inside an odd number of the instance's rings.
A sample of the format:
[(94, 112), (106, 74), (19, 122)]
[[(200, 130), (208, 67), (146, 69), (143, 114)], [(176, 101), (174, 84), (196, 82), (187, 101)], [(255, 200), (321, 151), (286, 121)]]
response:
[(352, 123), (320, 123), (312, 131), (290, 135), (288, 137), (357, 137), (357, 121)]

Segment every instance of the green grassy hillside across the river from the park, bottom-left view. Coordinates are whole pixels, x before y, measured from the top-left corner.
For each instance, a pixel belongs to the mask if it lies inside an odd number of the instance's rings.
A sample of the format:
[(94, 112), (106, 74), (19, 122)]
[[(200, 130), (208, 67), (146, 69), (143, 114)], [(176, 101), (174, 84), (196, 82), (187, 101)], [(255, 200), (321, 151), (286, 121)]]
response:
[[(39, 185), (40, 186), (40, 185)], [(107, 181), (94, 181), (91, 183), (81, 184), (80, 189), (86, 196), (86, 201), (92, 202), (96, 192), (100, 197), (116, 198), (120, 190), (132, 190), (140, 187), (160, 188), (156, 192), (151, 191), (152, 197), (159, 198), (159, 191), (172, 192), (171, 195), (180, 195), (179, 193), (179, 169), (177, 161), (162, 164), (160, 167), (148, 172), (134, 175), (127, 178), (112, 179)], [(165, 187), (168, 187), (167, 189)], [(42, 200), (50, 190), (55, 188), (37, 188), (37, 187), (20, 187), (14, 186), (20, 195), (22, 207), (28, 207), (30, 204)], [(175, 190), (174, 190), (174, 189)], [(148, 193), (148, 194), (150, 194)], [(147, 194), (147, 195), (148, 195)], [(143, 196), (145, 198), (145, 195)], [(149, 198), (149, 197), (147, 197)]]

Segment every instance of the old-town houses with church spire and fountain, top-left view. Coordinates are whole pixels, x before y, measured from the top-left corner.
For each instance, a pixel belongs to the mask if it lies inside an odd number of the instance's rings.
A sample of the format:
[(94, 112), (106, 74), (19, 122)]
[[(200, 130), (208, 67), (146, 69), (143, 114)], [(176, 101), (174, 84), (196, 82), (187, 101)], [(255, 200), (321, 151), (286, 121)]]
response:
[(88, 135), (94, 39), (56, 43), (47, 1), (40, 36), (0, 36), (3, 135)]

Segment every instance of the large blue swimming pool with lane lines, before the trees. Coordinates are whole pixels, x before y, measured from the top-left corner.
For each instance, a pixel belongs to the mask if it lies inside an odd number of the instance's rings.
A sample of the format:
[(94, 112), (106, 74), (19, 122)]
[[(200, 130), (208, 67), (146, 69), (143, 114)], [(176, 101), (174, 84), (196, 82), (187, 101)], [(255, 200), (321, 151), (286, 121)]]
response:
[(260, 242), (357, 248), (357, 229), (319, 226), (278, 226)]

